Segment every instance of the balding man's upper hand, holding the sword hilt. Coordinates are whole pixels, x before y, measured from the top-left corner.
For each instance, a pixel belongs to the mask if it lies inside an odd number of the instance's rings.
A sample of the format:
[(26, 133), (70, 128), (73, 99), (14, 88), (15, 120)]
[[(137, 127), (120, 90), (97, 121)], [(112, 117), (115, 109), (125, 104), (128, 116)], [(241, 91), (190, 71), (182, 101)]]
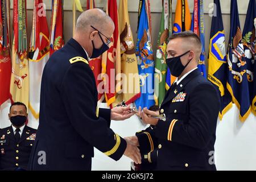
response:
[(115, 121), (123, 121), (130, 118), (134, 113), (130, 113), (130, 105), (122, 107), (113, 107), (111, 110), (111, 119)]

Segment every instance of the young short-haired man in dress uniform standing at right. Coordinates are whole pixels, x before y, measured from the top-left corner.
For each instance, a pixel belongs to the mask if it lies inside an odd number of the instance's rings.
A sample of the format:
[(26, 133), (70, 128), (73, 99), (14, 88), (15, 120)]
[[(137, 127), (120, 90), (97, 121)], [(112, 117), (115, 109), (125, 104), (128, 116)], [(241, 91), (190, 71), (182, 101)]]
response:
[[(220, 97), (197, 68), (200, 39), (191, 31), (172, 34), (166, 51), (166, 63), (176, 81), (167, 91), (160, 112), (139, 108), (143, 122), (155, 128), (126, 139), (142, 153), (158, 146), (158, 170), (216, 170), (212, 154)], [(150, 117), (159, 113), (165, 118)]]

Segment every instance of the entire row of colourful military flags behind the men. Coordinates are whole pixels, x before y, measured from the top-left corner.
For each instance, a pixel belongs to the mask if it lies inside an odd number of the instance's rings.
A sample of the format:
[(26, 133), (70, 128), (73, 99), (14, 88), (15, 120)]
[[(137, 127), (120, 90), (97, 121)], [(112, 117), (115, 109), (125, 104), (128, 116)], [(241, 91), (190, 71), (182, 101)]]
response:
[[(16, 18), (18, 28), (15, 29), (14, 23), (11, 59), (10, 26), (8, 24), (10, 22), (10, 5), (9, 0), (1, 0), (0, 105), (7, 98), (11, 98), (13, 101), (23, 101), (29, 106), (34, 117), (38, 118), (40, 78), (43, 67), (51, 53), (64, 44), (63, 1), (52, 0), (50, 32), (48, 32), (46, 16), (39, 16), (40, 13), (45, 13), (40, 8), (42, 0), (35, 1), (28, 55), (26, 52), (26, 1), (14, 1), (17, 2), (17, 7), (14, 7), (14, 22)], [(105, 100), (110, 107), (122, 100), (125, 100), (126, 104), (135, 102), (137, 107), (160, 105), (164, 94), (175, 80), (166, 65), (168, 37), (173, 33), (191, 30), (199, 36), (203, 46), (198, 68), (201, 74), (207, 77), (220, 91), (220, 119), (232, 107), (232, 102), (240, 109), (241, 121), (245, 121), (250, 111), (256, 114), (256, 84), (253, 79), (256, 65), (254, 64), (255, 0), (249, 2), (243, 32), (241, 32), (239, 23), (237, 0), (231, 1), (228, 53), (225, 48), (220, 1), (214, 0), (208, 54), (208, 75), (205, 69), (203, 0), (194, 0), (192, 18), (187, 0), (178, 0), (174, 22), (172, 22), (172, 1), (162, 0), (162, 6), (158, 49), (154, 60), (151, 41), (150, 1), (139, 0), (136, 46), (134, 46), (129, 22), (127, 0), (119, 1), (119, 9), (117, 8), (117, 0), (107, 1), (106, 13), (115, 24), (112, 43), (110, 49), (102, 56), (89, 61), (97, 86), (105, 89), (105, 93), (98, 93), (98, 100), (101, 102)], [(86, 7), (88, 9), (96, 7), (95, 2), (88, 0)], [(73, 31), (75, 31), (76, 9), (83, 11), (79, 0), (73, 1)], [(29, 68), (28, 62), (30, 64)], [(114, 74), (112, 74), (113, 70)], [(133, 80), (121, 81), (121, 78), (118, 77), (119, 73), (125, 75), (129, 75), (129, 73), (139, 74), (140, 81), (133, 82), (131, 86), (129, 83)], [(11, 77), (11, 82), (8, 81), (8, 75)], [(106, 81), (106, 76), (108, 76), (109, 81)], [(130, 77), (127, 78), (130, 79)], [(102, 82), (103, 85), (101, 85)], [(133, 88), (132, 92), (122, 92), (129, 88)]]

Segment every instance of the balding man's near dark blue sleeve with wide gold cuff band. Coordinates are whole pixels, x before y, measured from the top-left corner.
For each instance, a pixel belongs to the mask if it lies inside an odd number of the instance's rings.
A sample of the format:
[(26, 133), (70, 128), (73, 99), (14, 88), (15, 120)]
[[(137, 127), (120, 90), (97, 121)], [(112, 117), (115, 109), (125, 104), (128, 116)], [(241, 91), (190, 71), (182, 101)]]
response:
[(109, 128), (109, 113), (105, 113), (104, 118), (96, 115), (96, 85), (93, 79), (88, 64), (72, 64), (63, 78), (61, 97), (77, 133), (110, 158), (119, 160), (126, 149), (126, 141)]

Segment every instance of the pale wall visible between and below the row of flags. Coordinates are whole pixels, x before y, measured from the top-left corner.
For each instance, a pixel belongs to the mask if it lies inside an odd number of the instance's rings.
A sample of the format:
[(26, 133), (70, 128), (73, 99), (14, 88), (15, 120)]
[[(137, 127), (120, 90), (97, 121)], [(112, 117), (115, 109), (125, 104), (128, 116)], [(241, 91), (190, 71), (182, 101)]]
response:
[[(105, 7), (106, 0), (95, 0), (97, 7)], [(32, 0), (27, 0), (28, 9), (32, 7)], [(47, 5), (47, 21), (48, 24), (51, 19), (51, 0), (44, 0)], [(72, 37), (72, 2), (64, 1), (64, 38), (65, 42)], [(154, 43), (154, 52), (156, 51), (156, 40), (159, 32), (160, 12), (162, 10), (162, 0), (151, 0), (151, 11), (152, 11), (152, 39)], [(188, 0), (189, 7), (192, 12), (193, 0)], [(206, 51), (208, 52), (209, 45), (209, 34), (211, 18), (208, 15), (210, 9), (210, 3), (213, 0), (204, 1), (205, 9), (205, 45)], [(229, 13), (230, 13), (230, 0), (221, 0), (222, 7), (222, 18), (224, 21), (224, 29), (226, 33), (226, 40), (229, 39)], [(82, 6), (86, 5), (85, 0), (81, 0)], [(249, 0), (238, 0), (238, 11), (240, 13), (240, 24), (243, 28), (245, 22), (245, 14), (247, 10)], [(137, 11), (138, 11), (138, 0), (128, 1), (130, 11), (130, 22), (133, 30), (134, 40), (136, 40), (136, 28), (137, 28)], [(175, 11), (176, 0), (173, 1), (172, 9)], [(85, 10), (85, 8), (84, 8)], [(28, 14), (28, 38), (30, 38), (31, 22), (32, 22), (32, 10), (27, 11)], [(77, 16), (80, 13), (77, 12)], [(12, 16), (12, 11), (11, 11)], [(29, 40), (29, 39), (28, 39)], [(227, 45), (226, 45), (227, 46)], [(206, 61), (206, 65), (208, 65)], [(105, 104), (101, 104), (102, 107)], [(0, 128), (10, 126), (7, 114), (9, 113), (10, 102), (1, 106), (0, 109)], [(244, 123), (239, 121), (239, 111), (235, 105), (232, 109), (224, 115), (222, 121), (218, 121), (216, 131), (216, 143), (215, 143), (215, 162), (218, 170), (256, 170), (256, 117), (250, 114)], [(28, 126), (37, 128), (38, 121), (29, 115)], [(132, 117), (123, 122), (113, 121), (111, 125), (112, 129), (120, 134), (122, 137), (133, 135), (136, 131), (143, 129), (142, 123), (137, 117)], [(125, 156), (118, 162), (107, 158), (98, 150), (95, 150), (95, 157), (93, 159), (94, 170), (129, 170), (130, 160)]]

